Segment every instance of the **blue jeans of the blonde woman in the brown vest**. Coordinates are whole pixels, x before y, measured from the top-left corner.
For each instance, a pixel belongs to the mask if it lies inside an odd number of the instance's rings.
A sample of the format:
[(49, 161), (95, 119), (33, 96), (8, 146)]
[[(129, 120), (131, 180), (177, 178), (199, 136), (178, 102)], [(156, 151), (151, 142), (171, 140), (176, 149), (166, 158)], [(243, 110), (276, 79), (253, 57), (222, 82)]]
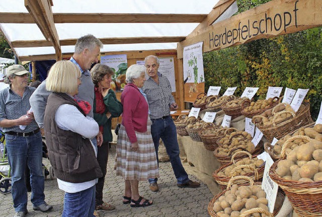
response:
[(95, 210), (95, 185), (76, 193), (65, 193), (62, 217), (93, 217)]

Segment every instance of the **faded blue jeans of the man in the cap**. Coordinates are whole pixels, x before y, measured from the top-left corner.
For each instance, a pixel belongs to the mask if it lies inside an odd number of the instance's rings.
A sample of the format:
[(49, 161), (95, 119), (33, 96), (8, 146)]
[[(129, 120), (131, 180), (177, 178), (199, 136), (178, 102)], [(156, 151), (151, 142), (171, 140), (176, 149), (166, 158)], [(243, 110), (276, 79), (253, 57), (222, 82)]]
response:
[(41, 133), (22, 137), (6, 134), (6, 148), (12, 169), (12, 197), (15, 210), (27, 210), (27, 188), (25, 169), (28, 161), (30, 169), (31, 202), (39, 206), (45, 201), (44, 176), (42, 174), (42, 138)]

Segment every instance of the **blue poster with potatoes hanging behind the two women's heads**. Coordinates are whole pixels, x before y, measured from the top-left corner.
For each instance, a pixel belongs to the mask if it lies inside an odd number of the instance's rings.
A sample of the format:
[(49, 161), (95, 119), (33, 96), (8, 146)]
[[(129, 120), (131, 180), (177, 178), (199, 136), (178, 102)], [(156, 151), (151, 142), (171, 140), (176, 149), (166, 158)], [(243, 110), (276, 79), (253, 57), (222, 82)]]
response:
[(126, 54), (101, 56), (101, 64), (109, 66), (113, 71), (111, 89), (122, 91), (126, 85), (125, 73), (127, 70)]

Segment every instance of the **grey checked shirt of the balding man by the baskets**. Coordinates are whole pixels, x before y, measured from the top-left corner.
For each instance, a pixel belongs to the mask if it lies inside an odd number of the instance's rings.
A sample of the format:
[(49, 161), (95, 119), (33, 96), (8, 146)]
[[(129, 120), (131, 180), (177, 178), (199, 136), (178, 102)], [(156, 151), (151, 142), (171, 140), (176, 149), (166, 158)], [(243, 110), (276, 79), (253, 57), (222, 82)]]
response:
[(142, 87), (149, 104), (150, 118), (159, 119), (170, 115), (170, 105), (175, 103), (170, 82), (166, 76), (157, 72), (159, 84), (148, 77)]

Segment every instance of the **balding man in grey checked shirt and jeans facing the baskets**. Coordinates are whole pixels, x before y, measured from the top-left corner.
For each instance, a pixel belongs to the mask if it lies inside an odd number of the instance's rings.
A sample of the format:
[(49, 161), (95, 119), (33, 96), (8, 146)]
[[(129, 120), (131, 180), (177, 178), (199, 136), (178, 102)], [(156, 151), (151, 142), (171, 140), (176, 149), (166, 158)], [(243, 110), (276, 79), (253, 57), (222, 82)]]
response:
[[(161, 138), (169, 154), (178, 187), (199, 187), (200, 183), (189, 179), (179, 157), (180, 150), (177, 140), (177, 129), (170, 116), (170, 110), (177, 110), (178, 105), (171, 94), (170, 82), (166, 76), (157, 71), (159, 68), (159, 60), (156, 56), (147, 56), (144, 62), (148, 77), (144, 82), (142, 90), (146, 94), (149, 105), (149, 113), (152, 121), (151, 134), (156, 159), (158, 160), (157, 151)], [(157, 178), (149, 179), (149, 183), (151, 191), (158, 191)]]

